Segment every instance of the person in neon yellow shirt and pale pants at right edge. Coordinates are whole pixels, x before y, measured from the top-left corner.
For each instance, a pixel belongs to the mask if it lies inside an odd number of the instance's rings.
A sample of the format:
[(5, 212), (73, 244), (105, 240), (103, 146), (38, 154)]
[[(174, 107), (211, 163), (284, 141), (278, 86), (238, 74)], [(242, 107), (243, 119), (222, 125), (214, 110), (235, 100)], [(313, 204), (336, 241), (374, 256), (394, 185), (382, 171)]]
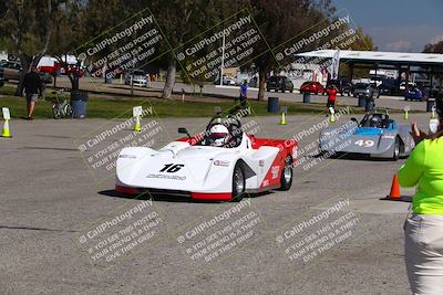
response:
[(426, 135), (412, 124), (416, 143), (398, 177), (402, 187), (418, 186), (404, 222), (408, 278), (413, 294), (443, 295), (443, 103), (440, 126)]

